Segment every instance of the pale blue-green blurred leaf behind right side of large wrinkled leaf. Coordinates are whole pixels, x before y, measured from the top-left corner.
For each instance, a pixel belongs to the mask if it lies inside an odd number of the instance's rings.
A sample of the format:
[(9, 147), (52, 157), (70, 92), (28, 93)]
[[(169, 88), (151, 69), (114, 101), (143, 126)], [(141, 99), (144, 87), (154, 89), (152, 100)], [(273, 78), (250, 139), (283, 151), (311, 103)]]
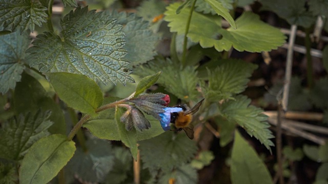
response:
[(115, 24), (123, 25), (122, 32), (126, 34), (124, 49), (128, 51), (126, 59), (133, 65), (145, 63), (156, 55), (155, 45), (159, 36), (149, 29), (149, 23), (134, 13), (106, 12), (111, 18), (117, 19)]

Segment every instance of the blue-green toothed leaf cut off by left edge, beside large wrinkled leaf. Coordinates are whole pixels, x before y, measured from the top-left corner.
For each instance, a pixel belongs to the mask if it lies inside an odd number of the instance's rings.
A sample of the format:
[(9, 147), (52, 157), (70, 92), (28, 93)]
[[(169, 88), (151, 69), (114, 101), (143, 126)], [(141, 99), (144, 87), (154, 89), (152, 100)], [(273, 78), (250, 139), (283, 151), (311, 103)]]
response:
[(20, 81), (30, 40), (27, 32), (15, 32), (0, 36), (0, 42), (0, 93), (5, 94)]

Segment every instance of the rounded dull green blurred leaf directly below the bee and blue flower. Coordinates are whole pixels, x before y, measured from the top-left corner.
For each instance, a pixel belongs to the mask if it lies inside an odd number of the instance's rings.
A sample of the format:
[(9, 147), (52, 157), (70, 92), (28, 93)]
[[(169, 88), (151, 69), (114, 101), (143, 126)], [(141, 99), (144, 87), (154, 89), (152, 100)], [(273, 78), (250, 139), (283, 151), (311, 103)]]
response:
[(166, 172), (188, 162), (197, 151), (195, 142), (188, 139), (184, 132), (175, 134), (167, 131), (139, 144), (144, 168)]

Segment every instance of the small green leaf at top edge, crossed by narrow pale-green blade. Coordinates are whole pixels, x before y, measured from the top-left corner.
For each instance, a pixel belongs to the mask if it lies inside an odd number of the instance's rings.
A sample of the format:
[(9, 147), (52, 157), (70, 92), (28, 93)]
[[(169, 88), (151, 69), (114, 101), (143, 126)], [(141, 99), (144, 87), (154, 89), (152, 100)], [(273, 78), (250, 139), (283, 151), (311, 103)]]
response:
[[(222, 6), (228, 10), (233, 9), (232, 0), (221, 0), (221, 1), (215, 0), (215, 1), (221, 3)], [(207, 13), (211, 13), (212, 15), (216, 14), (215, 10), (210, 6), (210, 4), (208, 4), (204, 0), (197, 0), (195, 10), (198, 12), (203, 12), (205, 14)]]

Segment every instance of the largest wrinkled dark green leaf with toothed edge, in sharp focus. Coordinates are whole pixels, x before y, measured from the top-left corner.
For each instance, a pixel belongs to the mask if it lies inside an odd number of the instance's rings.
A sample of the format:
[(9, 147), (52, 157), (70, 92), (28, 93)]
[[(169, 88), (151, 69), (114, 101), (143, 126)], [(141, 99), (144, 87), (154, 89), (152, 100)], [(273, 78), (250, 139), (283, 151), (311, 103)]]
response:
[(71, 11), (60, 22), (61, 37), (40, 34), (28, 49), (31, 66), (40, 72), (83, 74), (104, 84), (134, 82), (124, 58), (124, 33), (109, 15), (88, 7)]

